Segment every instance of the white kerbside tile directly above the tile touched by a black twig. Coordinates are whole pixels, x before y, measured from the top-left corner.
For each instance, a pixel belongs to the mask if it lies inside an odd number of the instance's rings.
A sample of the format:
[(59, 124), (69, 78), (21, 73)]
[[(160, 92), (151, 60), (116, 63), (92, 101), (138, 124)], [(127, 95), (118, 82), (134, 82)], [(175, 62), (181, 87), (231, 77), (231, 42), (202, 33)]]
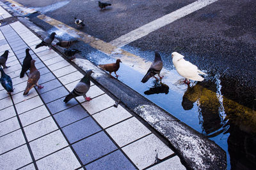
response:
[(151, 131), (135, 117), (109, 127), (106, 131), (120, 147), (151, 133)]

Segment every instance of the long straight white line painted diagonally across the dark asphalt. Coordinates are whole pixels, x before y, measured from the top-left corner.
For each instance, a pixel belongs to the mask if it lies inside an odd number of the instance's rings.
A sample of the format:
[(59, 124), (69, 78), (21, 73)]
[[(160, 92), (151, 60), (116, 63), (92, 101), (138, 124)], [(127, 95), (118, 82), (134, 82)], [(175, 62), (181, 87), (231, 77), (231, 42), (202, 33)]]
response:
[(147, 34), (149, 34), (150, 32), (156, 31), (157, 29), (164, 27), (165, 25), (171, 24), (175, 20), (185, 17), (186, 15), (189, 15), (194, 11), (200, 10), (201, 8), (204, 8), (205, 6), (212, 4), (216, 1), (218, 0), (195, 1), (194, 3), (188, 4), (187, 6), (180, 8), (179, 10), (173, 11), (172, 13), (169, 13), (161, 18), (149, 22), (148, 24), (145, 24), (142, 27), (135, 29), (134, 31), (128, 32), (127, 34), (124, 34), (123, 36), (120, 36), (119, 38), (116, 38), (113, 41), (110, 41), (109, 43), (116, 47), (125, 46), (131, 43), (132, 41), (135, 41), (136, 39), (140, 39), (143, 36), (147, 36)]

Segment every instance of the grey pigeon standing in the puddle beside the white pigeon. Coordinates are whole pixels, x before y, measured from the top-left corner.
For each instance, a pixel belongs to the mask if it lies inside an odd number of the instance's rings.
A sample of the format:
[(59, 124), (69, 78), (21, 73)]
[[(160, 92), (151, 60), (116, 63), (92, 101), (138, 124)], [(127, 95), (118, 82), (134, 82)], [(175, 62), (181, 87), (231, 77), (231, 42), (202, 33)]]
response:
[[(163, 76), (160, 76), (160, 71), (163, 68), (163, 61), (161, 59), (161, 56), (158, 52), (155, 52), (155, 59), (152, 62), (151, 66), (148, 69), (147, 74), (143, 77), (143, 79), (141, 80), (142, 83), (146, 83), (148, 81), (149, 78), (151, 77), (155, 77), (156, 74), (158, 74), (159, 78), (162, 79)], [(156, 80), (158, 80), (156, 78)]]

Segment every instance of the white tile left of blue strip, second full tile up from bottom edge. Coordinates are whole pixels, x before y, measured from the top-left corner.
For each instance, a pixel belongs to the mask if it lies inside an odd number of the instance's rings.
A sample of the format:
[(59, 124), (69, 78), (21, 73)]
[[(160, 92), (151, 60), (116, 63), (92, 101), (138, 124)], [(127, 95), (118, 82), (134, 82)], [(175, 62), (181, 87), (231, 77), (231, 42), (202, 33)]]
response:
[(52, 117), (45, 118), (35, 124), (24, 127), (28, 141), (44, 136), (45, 134), (58, 129)]

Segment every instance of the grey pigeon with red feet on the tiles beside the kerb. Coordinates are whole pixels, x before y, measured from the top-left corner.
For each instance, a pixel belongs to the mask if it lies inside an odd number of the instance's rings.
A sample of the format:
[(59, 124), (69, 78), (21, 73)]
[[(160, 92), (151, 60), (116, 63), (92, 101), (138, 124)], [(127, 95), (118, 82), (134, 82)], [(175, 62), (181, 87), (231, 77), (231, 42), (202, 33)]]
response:
[(92, 73), (92, 69), (86, 71), (85, 76), (77, 83), (75, 89), (72, 90), (72, 92), (70, 92), (70, 94), (65, 97), (63, 102), (67, 103), (68, 101), (77, 96), (83, 96), (86, 101), (92, 100), (91, 97), (86, 97), (86, 93), (90, 89), (90, 77)]

